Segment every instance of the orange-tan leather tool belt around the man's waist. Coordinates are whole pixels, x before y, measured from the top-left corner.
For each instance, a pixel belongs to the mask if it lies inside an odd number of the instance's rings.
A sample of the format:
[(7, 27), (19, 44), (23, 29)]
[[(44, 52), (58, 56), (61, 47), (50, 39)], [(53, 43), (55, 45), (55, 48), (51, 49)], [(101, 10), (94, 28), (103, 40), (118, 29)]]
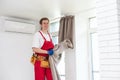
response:
[(40, 67), (43, 67), (43, 68), (50, 67), (48, 57), (33, 54), (31, 57), (31, 63), (35, 64), (36, 61), (40, 61)]

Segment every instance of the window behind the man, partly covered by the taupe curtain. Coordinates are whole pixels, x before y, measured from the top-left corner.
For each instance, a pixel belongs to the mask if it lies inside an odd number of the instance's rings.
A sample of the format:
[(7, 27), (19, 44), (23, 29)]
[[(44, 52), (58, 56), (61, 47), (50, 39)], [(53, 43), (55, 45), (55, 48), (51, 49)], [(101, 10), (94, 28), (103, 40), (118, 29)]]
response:
[[(59, 21), (52, 22), (50, 24), (50, 32), (52, 34), (52, 40), (54, 44), (58, 43), (58, 31), (59, 31)], [(65, 54), (62, 54), (62, 59), (58, 64), (58, 72), (60, 74), (61, 80), (65, 80)]]

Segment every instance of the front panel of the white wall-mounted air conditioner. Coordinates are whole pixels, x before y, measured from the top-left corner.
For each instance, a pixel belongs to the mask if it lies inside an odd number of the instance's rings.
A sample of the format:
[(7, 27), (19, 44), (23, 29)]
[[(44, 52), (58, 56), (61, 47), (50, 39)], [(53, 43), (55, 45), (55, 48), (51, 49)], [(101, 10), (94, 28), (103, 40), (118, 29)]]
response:
[(5, 20), (6, 32), (18, 32), (32, 34), (35, 32), (35, 25), (31, 23)]

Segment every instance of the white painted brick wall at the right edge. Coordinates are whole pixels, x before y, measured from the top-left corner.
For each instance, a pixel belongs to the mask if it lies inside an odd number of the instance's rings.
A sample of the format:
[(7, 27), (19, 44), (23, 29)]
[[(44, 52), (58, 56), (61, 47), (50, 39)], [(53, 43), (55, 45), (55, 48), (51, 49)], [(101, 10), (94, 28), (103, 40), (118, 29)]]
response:
[(120, 80), (120, 0), (97, 0), (100, 80)]

